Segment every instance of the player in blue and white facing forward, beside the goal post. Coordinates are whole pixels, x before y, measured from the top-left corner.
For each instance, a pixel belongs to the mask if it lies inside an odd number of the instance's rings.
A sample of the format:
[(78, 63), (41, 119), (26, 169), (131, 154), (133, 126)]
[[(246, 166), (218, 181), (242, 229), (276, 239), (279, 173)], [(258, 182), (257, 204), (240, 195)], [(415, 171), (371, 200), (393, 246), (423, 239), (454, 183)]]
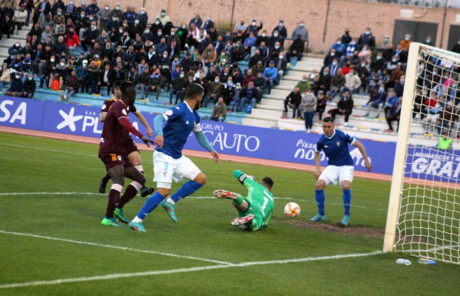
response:
[[(333, 123), (334, 119), (332, 119), (332, 117), (325, 117), (323, 119), (322, 127), (324, 135), (316, 142), (315, 178), (318, 181), (315, 185), (315, 199), (316, 205), (318, 206), (318, 213), (310, 220), (326, 220), (326, 214), (324, 212), (324, 188), (330, 183), (336, 185), (337, 181), (339, 181), (343, 189), (343, 207), (345, 208), (342, 224), (348, 225), (351, 202), (350, 186), (353, 182), (353, 159), (348, 151), (348, 144), (358, 147), (368, 172), (371, 171), (372, 165), (367, 158), (366, 150), (361, 142), (340, 130), (334, 130)], [(321, 150), (324, 151), (324, 154), (326, 154), (328, 158), (328, 166), (323, 172), (321, 172), (321, 166), (319, 165), (319, 153)]]

